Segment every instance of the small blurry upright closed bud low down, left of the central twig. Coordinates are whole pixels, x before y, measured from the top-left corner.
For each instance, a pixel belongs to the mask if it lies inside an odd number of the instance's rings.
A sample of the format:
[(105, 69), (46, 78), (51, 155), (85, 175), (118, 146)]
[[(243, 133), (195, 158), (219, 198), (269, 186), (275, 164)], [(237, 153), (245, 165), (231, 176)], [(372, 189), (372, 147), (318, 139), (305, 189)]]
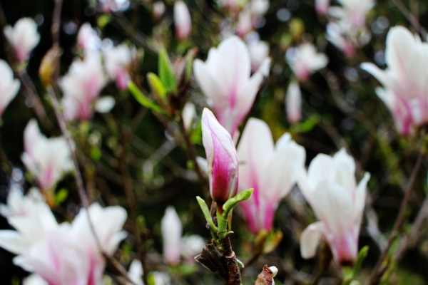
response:
[(180, 262), (180, 244), (183, 234), (183, 224), (173, 206), (165, 210), (165, 215), (161, 221), (163, 237), (163, 258), (168, 264), (178, 264)]

